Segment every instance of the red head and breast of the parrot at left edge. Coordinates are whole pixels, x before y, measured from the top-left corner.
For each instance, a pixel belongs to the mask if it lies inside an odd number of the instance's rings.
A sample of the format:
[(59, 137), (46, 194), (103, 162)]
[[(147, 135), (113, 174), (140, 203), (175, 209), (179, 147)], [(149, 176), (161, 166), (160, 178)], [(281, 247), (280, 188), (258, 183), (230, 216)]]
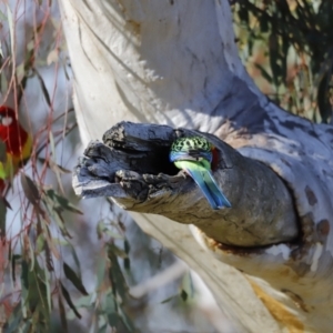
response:
[(0, 140), (12, 153), (21, 151), (23, 143), (27, 141), (28, 133), (20, 125), (16, 117), (16, 111), (9, 107), (0, 107)]

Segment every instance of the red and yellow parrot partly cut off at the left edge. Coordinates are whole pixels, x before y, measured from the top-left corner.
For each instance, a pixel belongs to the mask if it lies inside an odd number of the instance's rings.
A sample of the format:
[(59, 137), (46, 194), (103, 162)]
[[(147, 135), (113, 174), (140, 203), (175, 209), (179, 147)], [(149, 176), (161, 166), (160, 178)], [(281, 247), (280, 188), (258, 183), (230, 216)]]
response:
[(0, 107), (0, 196), (31, 155), (32, 137), (21, 127), (16, 112)]

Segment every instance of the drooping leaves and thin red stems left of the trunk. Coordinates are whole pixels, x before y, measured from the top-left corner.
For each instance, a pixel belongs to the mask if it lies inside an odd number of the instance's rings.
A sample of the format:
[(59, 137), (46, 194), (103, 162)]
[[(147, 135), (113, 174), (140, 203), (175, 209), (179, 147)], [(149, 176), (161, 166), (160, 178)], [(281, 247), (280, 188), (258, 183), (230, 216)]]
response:
[[(58, 163), (63, 157), (57, 157), (58, 144), (77, 128), (75, 121), (70, 121), (73, 109), (54, 117), (59, 104), (68, 103), (65, 98), (56, 100), (57, 75), (61, 70), (69, 81), (61, 84), (70, 85), (67, 47), (57, 13), (52, 18), (57, 12), (51, 8), (52, 1), (49, 8), (46, 3), (40, 8), (38, 2), (13, 2), (0, 9), (1, 103), (13, 101), (18, 111), (26, 107), (28, 115), (32, 115), (30, 121), (34, 121), (37, 110), (29, 108), (31, 97), (27, 93), (29, 84), (34, 84), (33, 93), (42, 97), (40, 104), (44, 102), (40, 117), (47, 115), (46, 125), (33, 133), (33, 153), (27, 168), (31, 172), (29, 175), (21, 172), (23, 193), (13, 189), (21, 199), (14, 220), (16, 226), (21, 222), (19, 231), (11, 232), (11, 223), (7, 221), (10, 204), (6, 195), (12, 189), (7, 188), (0, 199), (0, 282), (4, 286), (0, 292), (0, 332), (2, 325), (4, 332), (51, 332), (54, 323), (61, 325), (59, 332), (70, 332), (73, 322), (83, 316), (84, 321), (92, 319), (90, 332), (110, 332), (110, 327), (133, 332), (124, 311), (128, 286), (120, 265), (121, 262), (125, 270), (130, 269), (130, 245), (117, 222), (98, 224), (97, 245), (102, 250), (94, 268), (95, 287), (88, 289), (82, 281), (79, 251), (83, 246), (75, 245), (78, 236), (72, 226), (83, 216), (63, 185), (63, 175), (71, 171)], [(24, 24), (20, 24), (22, 21)], [(46, 80), (46, 70), (52, 67), (54, 78)], [(1, 141), (0, 161), (6, 160), (4, 152)], [(47, 173), (57, 184), (44, 183)], [(6, 229), (10, 231), (8, 235)]]

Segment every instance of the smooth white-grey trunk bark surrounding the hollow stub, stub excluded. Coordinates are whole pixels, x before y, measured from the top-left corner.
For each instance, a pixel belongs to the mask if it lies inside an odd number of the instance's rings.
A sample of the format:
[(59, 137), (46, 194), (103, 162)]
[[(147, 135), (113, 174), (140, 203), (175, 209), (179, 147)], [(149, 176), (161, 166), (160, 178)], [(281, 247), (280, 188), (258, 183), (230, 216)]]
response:
[(226, 0), (60, 3), (85, 143), (121, 120), (214, 133), (285, 181), (303, 236), (246, 252), (198, 230), (195, 242), (163, 216), (133, 213), (140, 226), (202, 276), (238, 332), (330, 332), (332, 127), (285, 113), (258, 91), (238, 58)]

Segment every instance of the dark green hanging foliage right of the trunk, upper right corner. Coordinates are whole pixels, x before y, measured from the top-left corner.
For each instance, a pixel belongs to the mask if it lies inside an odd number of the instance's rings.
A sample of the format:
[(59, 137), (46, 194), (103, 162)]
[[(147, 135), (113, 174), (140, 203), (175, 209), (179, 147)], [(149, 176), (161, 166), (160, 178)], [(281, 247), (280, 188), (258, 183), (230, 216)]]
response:
[(240, 56), (282, 108), (312, 121), (332, 118), (333, 1), (233, 1)]

